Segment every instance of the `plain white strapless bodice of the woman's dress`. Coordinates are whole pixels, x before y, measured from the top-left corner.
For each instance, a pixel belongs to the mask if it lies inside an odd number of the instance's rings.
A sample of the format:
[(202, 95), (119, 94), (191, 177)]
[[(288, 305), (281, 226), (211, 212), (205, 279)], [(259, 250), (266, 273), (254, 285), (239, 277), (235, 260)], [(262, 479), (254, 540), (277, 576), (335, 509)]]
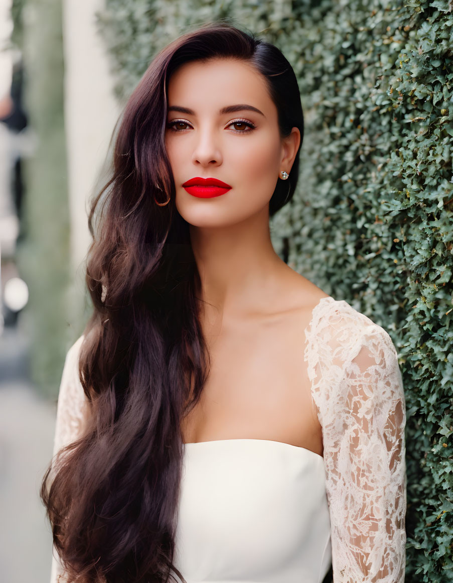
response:
[(261, 439), (184, 447), (174, 563), (187, 583), (323, 581), (332, 555), (320, 455)]

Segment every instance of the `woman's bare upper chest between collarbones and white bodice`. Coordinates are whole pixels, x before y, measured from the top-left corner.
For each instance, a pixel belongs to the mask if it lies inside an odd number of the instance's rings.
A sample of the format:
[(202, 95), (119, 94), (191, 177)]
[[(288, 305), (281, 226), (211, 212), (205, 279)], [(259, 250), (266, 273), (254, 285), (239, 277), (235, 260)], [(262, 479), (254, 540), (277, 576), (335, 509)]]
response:
[(267, 439), (322, 454), (303, 356), (310, 314), (204, 323), (211, 369), (200, 402), (183, 420), (184, 442)]

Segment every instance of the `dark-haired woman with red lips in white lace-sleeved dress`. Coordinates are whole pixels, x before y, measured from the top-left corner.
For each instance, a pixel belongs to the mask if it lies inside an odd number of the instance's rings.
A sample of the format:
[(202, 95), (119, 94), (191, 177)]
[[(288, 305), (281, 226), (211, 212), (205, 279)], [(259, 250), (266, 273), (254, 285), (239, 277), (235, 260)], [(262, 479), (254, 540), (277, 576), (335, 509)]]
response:
[(52, 583), (404, 581), (395, 347), (271, 244), (302, 138), (291, 65), (225, 22), (126, 104), (41, 487)]

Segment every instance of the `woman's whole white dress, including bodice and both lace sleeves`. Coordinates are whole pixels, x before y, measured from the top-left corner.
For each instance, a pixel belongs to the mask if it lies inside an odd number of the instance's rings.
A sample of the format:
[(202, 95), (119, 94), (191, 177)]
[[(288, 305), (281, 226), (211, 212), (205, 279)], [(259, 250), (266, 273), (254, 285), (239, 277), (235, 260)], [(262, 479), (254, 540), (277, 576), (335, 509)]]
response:
[[(305, 329), (323, 456), (266, 439), (185, 444), (174, 564), (187, 583), (403, 583), (405, 397), (388, 333), (322, 298)], [(54, 454), (80, 433), (83, 336), (63, 368)], [(51, 583), (65, 581), (57, 559)], [(179, 580), (174, 574), (176, 580)]]

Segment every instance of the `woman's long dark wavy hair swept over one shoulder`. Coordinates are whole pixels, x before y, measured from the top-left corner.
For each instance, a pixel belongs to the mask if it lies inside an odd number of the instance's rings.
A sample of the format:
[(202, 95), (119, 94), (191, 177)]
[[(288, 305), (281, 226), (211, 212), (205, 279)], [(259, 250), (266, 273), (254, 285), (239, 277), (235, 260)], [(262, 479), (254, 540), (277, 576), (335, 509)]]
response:
[[(225, 21), (167, 45), (126, 103), (111, 177), (89, 213), (93, 314), (79, 356), (89, 415), (83, 434), (52, 460), (40, 490), (69, 583), (167, 583), (172, 570), (185, 581), (172, 562), (181, 423), (200, 400), (211, 360), (189, 224), (175, 207), (165, 150), (167, 90), (179, 66), (217, 57), (254, 65), (277, 106), (281, 136), (297, 127), (302, 145), (291, 65), (277, 47)], [(293, 196), (299, 152), (288, 180), (277, 180), (270, 216)]]

